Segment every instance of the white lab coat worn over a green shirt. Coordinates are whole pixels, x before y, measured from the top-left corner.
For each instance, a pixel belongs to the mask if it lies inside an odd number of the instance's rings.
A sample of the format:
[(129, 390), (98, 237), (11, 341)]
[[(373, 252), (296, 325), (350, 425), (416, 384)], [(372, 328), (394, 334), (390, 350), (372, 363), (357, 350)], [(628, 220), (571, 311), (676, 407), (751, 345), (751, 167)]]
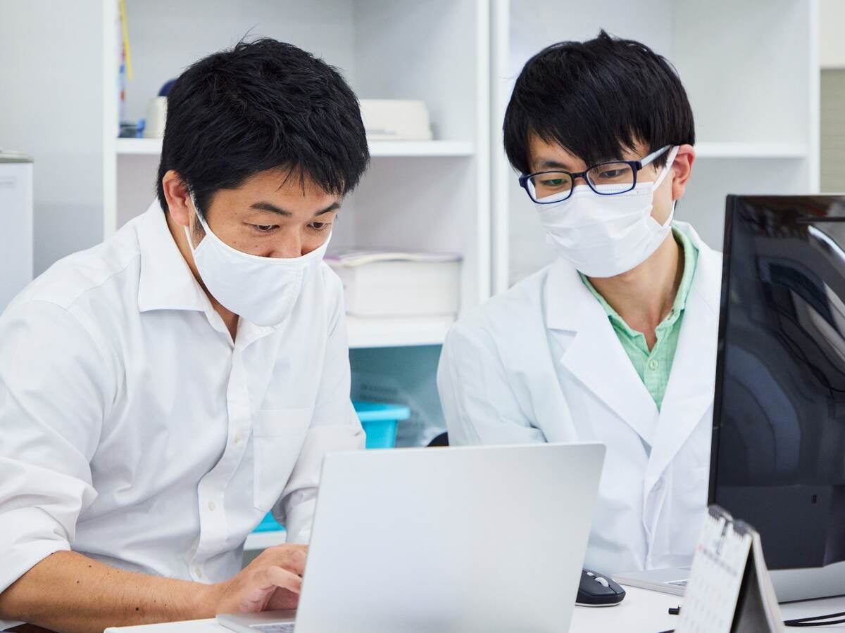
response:
[(605, 573), (689, 565), (706, 508), (722, 256), (675, 225), (699, 257), (659, 412), (563, 259), (461, 318), (440, 360), (453, 445), (607, 445), (585, 561)]

